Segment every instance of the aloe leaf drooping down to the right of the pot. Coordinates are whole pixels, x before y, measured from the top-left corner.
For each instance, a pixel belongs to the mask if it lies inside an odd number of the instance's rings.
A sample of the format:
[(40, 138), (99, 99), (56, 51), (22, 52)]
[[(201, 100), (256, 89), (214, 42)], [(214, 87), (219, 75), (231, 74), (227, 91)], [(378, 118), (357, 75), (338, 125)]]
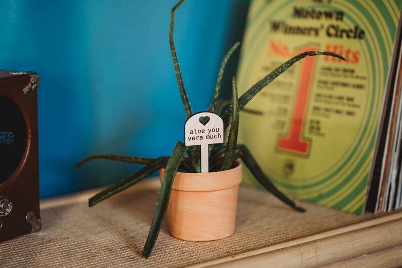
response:
[(275, 197), (277, 197), (280, 201), (289, 205), (294, 210), (305, 212), (306, 210), (302, 207), (296, 206), (295, 202), (290, 200), (287, 196), (285, 196), (282, 192), (276, 188), (276, 186), (269, 180), (269, 178), (264, 174), (261, 170), (260, 166), (255, 161), (252, 156), (250, 150), (243, 144), (238, 144), (238, 148), (242, 150), (242, 160), (243, 163), (247, 166), (253, 176), (257, 179), (257, 181), (269, 192), (271, 192)]

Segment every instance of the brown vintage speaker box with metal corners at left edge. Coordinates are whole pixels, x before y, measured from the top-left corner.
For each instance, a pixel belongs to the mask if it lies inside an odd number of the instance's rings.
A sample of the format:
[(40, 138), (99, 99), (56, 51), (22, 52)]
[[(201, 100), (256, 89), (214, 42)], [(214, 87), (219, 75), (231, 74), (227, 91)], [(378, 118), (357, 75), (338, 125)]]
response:
[(34, 72), (0, 70), (0, 241), (41, 229)]

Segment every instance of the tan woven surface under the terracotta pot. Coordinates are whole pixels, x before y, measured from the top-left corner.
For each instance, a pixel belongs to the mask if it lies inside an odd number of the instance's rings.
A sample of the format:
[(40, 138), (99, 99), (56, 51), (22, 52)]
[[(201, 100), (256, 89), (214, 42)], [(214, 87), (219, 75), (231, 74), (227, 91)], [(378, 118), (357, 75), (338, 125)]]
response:
[(381, 216), (348, 214), (307, 202), (298, 202), (307, 209), (299, 213), (267, 192), (242, 186), (231, 237), (187, 242), (171, 237), (165, 224), (151, 256), (144, 259), (140, 254), (155, 210), (158, 182), (141, 182), (88, 208), (94, 193), (42, 201), (42, 231), (1, 243), (0, 266), (184, 267)]

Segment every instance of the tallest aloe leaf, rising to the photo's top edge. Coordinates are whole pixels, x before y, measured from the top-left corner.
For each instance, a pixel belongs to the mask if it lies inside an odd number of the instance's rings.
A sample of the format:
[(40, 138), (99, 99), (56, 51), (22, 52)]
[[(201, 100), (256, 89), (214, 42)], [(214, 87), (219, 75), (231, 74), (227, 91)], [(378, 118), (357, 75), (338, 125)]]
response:
[(169, 29), (169, 45), (170, 52), (172, 53), (173, 65), (175, 67), (177, 85), (179, 86), (180, 96), (183, 101), (184, 110), (186, 111), (186, 116), (190, 117), (192, 110), (190, 107), (190, 102), (188, 101), (188, 96), (186, 90), (184, 89), (183, 79), (181, 78), (181, 71), (179, 67), (179, 62), (177, 60), (175, 44), (173, 42), (173, 28), (175, 23), (175, 11), (183, 4), (184, 0), (180, 0), (173, 8), (170, 15), (170, 29)]

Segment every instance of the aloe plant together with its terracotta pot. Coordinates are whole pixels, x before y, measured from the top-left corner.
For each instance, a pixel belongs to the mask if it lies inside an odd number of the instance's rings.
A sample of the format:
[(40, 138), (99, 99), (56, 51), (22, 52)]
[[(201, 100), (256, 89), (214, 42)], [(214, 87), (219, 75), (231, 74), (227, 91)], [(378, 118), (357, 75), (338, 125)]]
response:
[[(169, 44), (180, 95), (184, 104), (186, 116), (187, 118), (190, 118), (193, 116), (193, 112), (183, 86), (173, 42), (174, 14), (183, 2), (184, 0), (180, 0), (172, 9)], [(223, 129), (229, 130), (226, 143), (211, 144), (208, 147), (208, 159), (210, 163), (208, 166), (208, 173), (200, 173), (200, 146), (186, 146), (180, 141), (177, 142), (170, 157), (166, 156), (150, 159), (131, 156), (95, 155), (83, 159), (75, 167), (78, 168), (86, 162), (94, 159), (108, 159), (145, 165), (145, 167), (136, 173), (109, 186), (102, 192), (90, 198), (90, 207), (122, 192), (160, 170), (159, 176), (162, 185), (160, 187), (159, 197), (149, 229), (149, 234), (141, 254), (145, 258), (148, 258), (151, 254), (160, 227), (162, 226), (168, 210), (170, 232), (177, 238), (193, 241), (215, 240), (227, 237), (233, 233), (237, 190), (238, 184), (242, 179), (242, 163), (237, 161), (238, 159), (242, 160), (243, 164), (251, 171), (251, 174), (266, 190), (296, 211), (304, 211), (303, 208), (296, 206), (292, 200), (287, 198), (275, 187), (269, 178), (262, 172), (249, 149), (243, 144), (237, 144), (239, 111), (242, 110), (242, 108), (245, 107), (245, 105), (258, 92), (272, 82), (278, 75), (304, 57), (329, 55), (342, 60), (344, 60), (344, 58), (331, 52), (309, 51), (301, 53), (268, 73), (240, 97), (237, 97), (236, 82), (233, 76), (232, 99), (230, 105), (228, 105), (227, 101), (219, 101), (218, 95), (226, 63), (238, 46), (239, 43), (234, 44), (222, 60), (212, 104), (208, 110), (218, 114), (223, 121)], [(225, 107), (226, 109), (224, 109)], [(200, 123), (206, 125), (208, 124), (208, 119), (208, 117), (200, 118)], [(189, 193), (197, 193), (198, 196), (189, 197)], [(211, 193), (212, 195), (210, 195)], [(208, 208), (208, 205), (213, 208), (212, 210), (217, 210), (217, 207), (221, 207), (221, 210), (215, 214), (211, 214), (208, 212), (208, 209), (211, 210), (211, 208)], [(183, 207), (187, 207), (187, 211), (183, 210)], [(190, 209), (188, 209), (188, 207), (190, 207)], [(203, 211), (205, 209), (207, 212)], [(186, 213), (190, 214), (186, 215)], [(200, 214), (204, 214), (204, 219), (195, 219), (195, 215), (199, 216)], [(221, 214), (221, 217), (215, 218), (218, 214)], [(184, 218), (185, 222), (172, 223), (177, 218)], [(209, 229), (208, 226), (206, 226), (208, 224), (211, 224), (213, 228), (218, 228), (218, 230), (215, 232), (213, 229)], [(196, 226), (201, 227), (197, 230)]]

